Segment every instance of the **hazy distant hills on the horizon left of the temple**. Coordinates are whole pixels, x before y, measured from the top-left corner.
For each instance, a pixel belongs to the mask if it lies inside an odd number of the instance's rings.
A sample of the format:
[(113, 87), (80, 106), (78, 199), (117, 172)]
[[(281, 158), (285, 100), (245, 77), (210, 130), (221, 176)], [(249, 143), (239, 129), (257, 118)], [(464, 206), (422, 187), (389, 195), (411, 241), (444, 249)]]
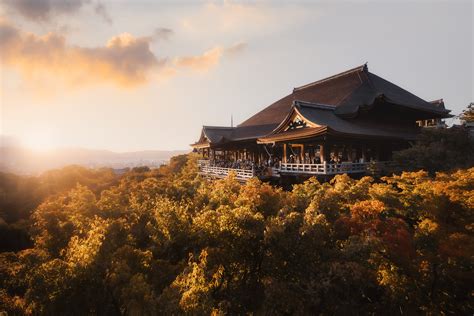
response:
[(171, 157), (188, 152), (189, 150), (144, 150), (117, 153), (84, 148), (37, 152), (19, 146), (3, 146), (0, 147), (0, 171), (35, 175), (72, 164), (89, 168), (114, 169), (138, 166), (158, 167), (168, 162)]

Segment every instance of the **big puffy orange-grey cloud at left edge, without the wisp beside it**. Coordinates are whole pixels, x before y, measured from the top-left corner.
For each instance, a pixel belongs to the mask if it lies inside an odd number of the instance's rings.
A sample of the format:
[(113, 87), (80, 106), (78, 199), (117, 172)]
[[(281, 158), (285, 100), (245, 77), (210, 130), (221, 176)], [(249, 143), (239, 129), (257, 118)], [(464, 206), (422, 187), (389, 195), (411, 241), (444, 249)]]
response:
[(146, 82), (166, 64), (150, 50), (149, 37), (124, 33), (105, 46), (68, 45), (62, 35), (37, 36), (0, 21), (2, 64), (19, 69), (24, 77), (58, 78), (73, 86), (110, 82), (135, 86)]

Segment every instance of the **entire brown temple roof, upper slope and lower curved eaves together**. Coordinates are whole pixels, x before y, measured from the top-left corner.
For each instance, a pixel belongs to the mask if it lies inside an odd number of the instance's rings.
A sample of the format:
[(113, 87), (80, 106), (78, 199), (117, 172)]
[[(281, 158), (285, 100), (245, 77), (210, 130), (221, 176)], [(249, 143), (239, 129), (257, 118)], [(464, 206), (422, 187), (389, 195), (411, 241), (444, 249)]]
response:
[[(377, 103), (377, 100), (384, 102)], [(304, 105), (304, 103), (312, 105)], [(390, 127), (386, 123), (351, 120), (357, 116), (359, 110), (376, 107), (376, 104), (392, 104), (419, 116), (450, 117), (448, 114), (450, 111), (445, 109), (442, 100), (427, 102), (370, 73), (365, 64), (294, 88), (291, 94), (264, 108), (237, 127), (204, 126), (200, 140), (194, 145), (218, 145), (232, 141), (255, 140), (271, 135), (272, 131), (285, 120), (294, 105), (297, 105), (299, 111), (307, 111), (305, 115), (315, 124), (327, 126), (328, 133), (413, 138), (414, 131), (403, 124), (402, 127), (400, 125)], [(316, 111), (315, 107), (320, 107), (320, 109)], [(313, 109), (308, 110), (309, 108)], [(382, 111), (385, 111), (384, 107)], [(308, 131), (298, 133), (308, 133)]]

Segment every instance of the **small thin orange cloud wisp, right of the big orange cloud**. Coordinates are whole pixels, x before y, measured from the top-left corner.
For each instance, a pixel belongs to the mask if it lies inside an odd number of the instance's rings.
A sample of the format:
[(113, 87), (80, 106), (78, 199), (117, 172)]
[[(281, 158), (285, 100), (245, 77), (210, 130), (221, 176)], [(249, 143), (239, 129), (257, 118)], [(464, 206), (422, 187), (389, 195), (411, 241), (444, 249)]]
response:
[(206, 71), (216, 66), (222, 57), (234, 57), (242, 53), (247, 43), (237, 43), (230, 47), (216, 46), (202, 55), (177, 57), (174, 64), (178, 67), (189, 68), (198, 71)]

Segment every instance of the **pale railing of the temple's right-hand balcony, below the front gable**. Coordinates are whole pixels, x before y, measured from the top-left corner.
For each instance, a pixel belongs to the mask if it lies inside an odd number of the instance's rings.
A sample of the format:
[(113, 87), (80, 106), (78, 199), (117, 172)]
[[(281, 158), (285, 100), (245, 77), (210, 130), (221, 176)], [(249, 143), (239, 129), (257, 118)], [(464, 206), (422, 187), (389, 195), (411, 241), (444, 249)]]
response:
[(301, 174), (342, 174), (342, 173), (363, 173), (367, 171), (368, 162), (342, 162), (342, 163), (281, 163), (281, 173), (301, 173)]

